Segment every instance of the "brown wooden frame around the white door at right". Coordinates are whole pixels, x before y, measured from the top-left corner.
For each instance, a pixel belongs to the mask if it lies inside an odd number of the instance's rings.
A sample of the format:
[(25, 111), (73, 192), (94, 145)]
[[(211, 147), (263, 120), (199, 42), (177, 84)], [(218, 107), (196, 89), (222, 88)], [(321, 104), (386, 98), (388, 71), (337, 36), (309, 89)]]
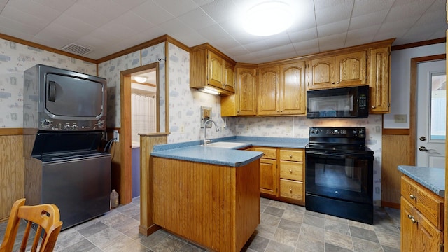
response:
[(435, 60), (446, 59), (446, 55), (431, 55), (426, 57), (414, 57), (411, 59), (411, 83), (410, 83), (410, 99), (409, 99), (409, 146), (412, 150), (410, 160), (416, 164), (416, 104), (417, 104), (417, 65), (421, 62), (430, 62)]

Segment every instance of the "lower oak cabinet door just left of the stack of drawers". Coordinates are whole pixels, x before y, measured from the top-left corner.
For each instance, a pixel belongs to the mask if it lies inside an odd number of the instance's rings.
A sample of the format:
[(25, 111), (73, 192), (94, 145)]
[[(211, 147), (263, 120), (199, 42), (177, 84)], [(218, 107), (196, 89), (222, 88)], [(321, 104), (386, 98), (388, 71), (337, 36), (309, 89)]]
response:
[(260, 192), (277, 195), (278, 178), (277, 162), (267, 158), (260, 158)]

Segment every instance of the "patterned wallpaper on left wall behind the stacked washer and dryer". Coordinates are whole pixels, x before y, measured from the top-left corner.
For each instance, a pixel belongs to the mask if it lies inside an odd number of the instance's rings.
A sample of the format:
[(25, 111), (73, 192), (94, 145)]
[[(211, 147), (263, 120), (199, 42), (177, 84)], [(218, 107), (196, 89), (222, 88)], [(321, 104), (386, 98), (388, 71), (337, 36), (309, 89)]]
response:
[(23, 127), (23, 72), (36, 64), (97, 75), (97, 64), (0, 39), (0, 127)]

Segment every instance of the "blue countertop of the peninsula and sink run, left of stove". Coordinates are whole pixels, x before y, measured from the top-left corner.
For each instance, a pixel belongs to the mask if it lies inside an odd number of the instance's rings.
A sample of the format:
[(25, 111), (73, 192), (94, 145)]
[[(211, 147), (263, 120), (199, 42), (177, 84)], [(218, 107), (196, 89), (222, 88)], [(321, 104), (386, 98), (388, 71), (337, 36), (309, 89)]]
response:
[[(217, 141), (231, 141), (241, 143), (237, 148), (251, 146), (282, 147), (282, 148), (304, 148), (308, 139), (281, 138), (281, 137), (223, 137), (212, 139)], [(177, 144), (160, 144), (153, 148), (151, 155), (161, 158), (173, 158), (193, 162), (204, 162), (213, 165), (226, 165), (239, 167), (247, 165), (263, 153), (260, 151), (241, 151), (232, 148), (218, 148), (202, 146), (202, 141), (189, 141)]]

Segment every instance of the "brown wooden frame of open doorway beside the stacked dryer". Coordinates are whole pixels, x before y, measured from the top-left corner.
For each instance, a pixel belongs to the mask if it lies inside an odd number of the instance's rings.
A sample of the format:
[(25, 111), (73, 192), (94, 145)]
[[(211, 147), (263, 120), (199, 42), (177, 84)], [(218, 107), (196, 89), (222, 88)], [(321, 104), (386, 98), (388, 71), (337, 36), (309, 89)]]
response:
[(160, 132), (160, 75), (159, 62), (134, 69), (120, 71), (120, 203), (132, 202), (132, 123), (131, 123), (131, 76), (133, 73), (155, 69), (157, 82), (156, 132)]

